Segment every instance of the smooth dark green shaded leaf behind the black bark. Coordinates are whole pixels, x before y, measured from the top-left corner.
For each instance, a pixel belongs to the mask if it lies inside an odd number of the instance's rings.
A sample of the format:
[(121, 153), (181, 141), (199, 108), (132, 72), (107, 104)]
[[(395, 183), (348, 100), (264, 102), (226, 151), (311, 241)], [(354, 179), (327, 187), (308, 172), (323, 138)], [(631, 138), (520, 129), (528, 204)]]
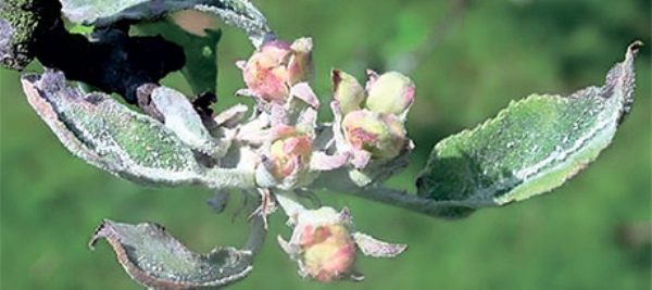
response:
[(192, 91), (216, 92), (217, 86), (217, 42), (222, 36), (221, 30), (205, 30), (205, 36), (198, 36), (181, 29), (170, 20), (140, 25), (143, 33), (161, 35), (181, 48), (186, 55), (186, 65), (181, 73)]

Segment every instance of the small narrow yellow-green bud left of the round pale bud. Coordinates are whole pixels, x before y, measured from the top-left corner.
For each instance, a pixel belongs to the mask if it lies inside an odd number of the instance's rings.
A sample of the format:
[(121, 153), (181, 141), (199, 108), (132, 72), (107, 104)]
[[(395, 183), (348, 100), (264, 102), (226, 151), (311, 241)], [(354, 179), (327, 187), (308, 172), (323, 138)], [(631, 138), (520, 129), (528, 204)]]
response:
[(333, 70), (330, 78), (333, 81), (333, 97), (338, 101), (342, 114), (360, 110), (365, 92), (358, 79), (339, 70)]

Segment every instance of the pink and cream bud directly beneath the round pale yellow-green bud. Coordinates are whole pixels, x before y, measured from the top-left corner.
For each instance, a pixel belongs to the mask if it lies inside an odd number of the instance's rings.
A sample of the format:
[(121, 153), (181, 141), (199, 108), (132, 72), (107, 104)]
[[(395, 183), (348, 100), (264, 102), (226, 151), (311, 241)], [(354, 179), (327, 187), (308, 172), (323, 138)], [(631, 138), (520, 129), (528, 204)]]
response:
[(344, 116), (342, 128), (351, 147), (365, 150), (377, 160), (399, 155), (406, 141), (403, 122), (390, 114), (353, 111)]

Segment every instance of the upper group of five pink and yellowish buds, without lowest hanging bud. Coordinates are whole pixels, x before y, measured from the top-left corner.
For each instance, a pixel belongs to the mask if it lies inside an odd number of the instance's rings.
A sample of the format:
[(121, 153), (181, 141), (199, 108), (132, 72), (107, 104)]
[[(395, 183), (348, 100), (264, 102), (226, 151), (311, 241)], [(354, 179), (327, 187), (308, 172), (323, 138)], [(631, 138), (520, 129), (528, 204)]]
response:
[(313, 71), (310, 38), (268, 41), (238, 65), (247, 85), (240, 93), (256, 100), (271, 133), (256, 169), (260, 186), (289, 190), (313, 180), (316, 172), (347, 164), (364, 169), (372, 162), (385, 166), (411, 149), (405, 118), (415, 86), (400, 73), (369, 72), (363, 87), (342, 71), (331, 72), (333, 150), (314, 144), (319, 102), (308, 83)]

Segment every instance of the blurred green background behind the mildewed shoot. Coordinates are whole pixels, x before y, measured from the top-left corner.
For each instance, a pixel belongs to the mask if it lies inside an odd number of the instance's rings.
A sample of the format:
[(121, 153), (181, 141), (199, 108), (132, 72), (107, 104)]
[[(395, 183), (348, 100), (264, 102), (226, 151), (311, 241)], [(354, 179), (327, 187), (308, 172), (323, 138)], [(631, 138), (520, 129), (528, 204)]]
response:
[[(614, 143), (556, 190), (462, 220), (440, 220), (334, 192), (360, 229), (410, 244), (396, 261), (362, 259), (362, 283), (302, 280), (275, 242), (281, 214), (254, 272), (231, 289), (650, 289), (652, 104), (649, 0), (317, 1), (259, 0), (271, 25), (315, 42), (315, 90), (329, 98), (328, 72), (399, 70), (417, 84), (411, 166), (391, 184), (412, 189), (442, 137), (493, 116), (531, 92), (569, 93), (602, 84), (625, 48), (643, 40), (634, 112)], [(220, 108), (242, 86), (234, 62), (251, 48), (233, 28), (220, 45)], [(83, 59), (80, 59), (83, 61)], [(166, 81), (189, 91), (179, 76)], [(73, 157), (28, 106), (18, 74), (0, 71), (2, 289), (140, 289), (102, 242), (86, 247), (102, 218), (155, 220), (191, 249), (243, 241), (238, 207), (215, 215), (210, 193), (143, 188)], [(328, 112), (323, 113), (328, 116)], [(638, 236), (637, 236), (638, 235)], [(637, 238), (638, 237), (638, 238)]]

